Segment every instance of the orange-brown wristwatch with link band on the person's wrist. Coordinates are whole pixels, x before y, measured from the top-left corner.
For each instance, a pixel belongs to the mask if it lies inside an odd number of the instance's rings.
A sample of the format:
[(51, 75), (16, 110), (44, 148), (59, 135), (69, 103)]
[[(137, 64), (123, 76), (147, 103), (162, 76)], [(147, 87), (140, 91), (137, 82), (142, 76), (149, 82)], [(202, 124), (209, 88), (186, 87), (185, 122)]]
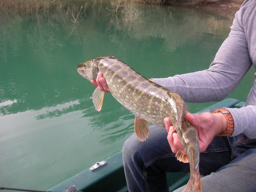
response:
[(234, 125), (235, 125), (234, 119), (231, 113), (224, 108), (216, 109), (213, 113), (222, 113), (226, 117), (227, 123), (228, 123), (226, 131), (221, 132), (218, 136), (231, 136), (232, 133), (234, 132)]

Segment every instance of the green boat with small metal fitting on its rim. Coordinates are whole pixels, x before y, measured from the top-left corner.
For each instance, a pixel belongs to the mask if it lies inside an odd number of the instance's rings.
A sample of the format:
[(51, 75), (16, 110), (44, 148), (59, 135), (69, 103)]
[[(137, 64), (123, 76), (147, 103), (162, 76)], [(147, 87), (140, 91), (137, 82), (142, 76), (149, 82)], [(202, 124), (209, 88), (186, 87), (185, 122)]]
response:
[[(241, 108), (244, 102), (239, 102), (236, 99), (225, 99), (204, 110), (214, 111), (218, 108)], [(188, 173), (167, 173), (169, 191), (173, 191), (185, 184), (189, 179)], [(122, 151), (116, 153), (101, 162), (95, 162), (95, 165), (87, 170), (73, 176), (72, 178), (60, 183), (59, 185), (49, 189), (48, 191), (63, 192), (71, 186), (75, 186), (79, 191), (108, 191), (108, 192), (127, 192)]]

